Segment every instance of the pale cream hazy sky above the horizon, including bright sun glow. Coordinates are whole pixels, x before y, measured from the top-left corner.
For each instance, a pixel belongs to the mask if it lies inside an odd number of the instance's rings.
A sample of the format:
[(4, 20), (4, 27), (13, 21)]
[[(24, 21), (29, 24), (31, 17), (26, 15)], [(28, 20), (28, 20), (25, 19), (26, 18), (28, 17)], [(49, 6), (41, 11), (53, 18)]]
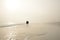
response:
[(0, 22), (60, 22), (59, 0), (0, 0)]

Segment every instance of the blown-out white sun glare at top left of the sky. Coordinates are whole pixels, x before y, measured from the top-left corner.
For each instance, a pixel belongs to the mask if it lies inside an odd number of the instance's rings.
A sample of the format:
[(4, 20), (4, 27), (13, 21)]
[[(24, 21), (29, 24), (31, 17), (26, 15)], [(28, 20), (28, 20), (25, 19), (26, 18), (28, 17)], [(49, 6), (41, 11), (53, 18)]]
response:
[(15, 10), (16, 8), (18, 8), (17, 0), (7, 0), (6, 8), (9, 10)]

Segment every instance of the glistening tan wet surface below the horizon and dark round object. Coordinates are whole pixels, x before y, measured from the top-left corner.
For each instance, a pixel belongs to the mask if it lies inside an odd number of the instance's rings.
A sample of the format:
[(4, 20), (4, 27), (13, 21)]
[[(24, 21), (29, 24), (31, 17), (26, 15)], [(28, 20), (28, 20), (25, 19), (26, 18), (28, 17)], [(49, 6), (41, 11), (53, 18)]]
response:
[(60, 24), (13, 25), (0, 27), (0, 40), (60, 40)]

